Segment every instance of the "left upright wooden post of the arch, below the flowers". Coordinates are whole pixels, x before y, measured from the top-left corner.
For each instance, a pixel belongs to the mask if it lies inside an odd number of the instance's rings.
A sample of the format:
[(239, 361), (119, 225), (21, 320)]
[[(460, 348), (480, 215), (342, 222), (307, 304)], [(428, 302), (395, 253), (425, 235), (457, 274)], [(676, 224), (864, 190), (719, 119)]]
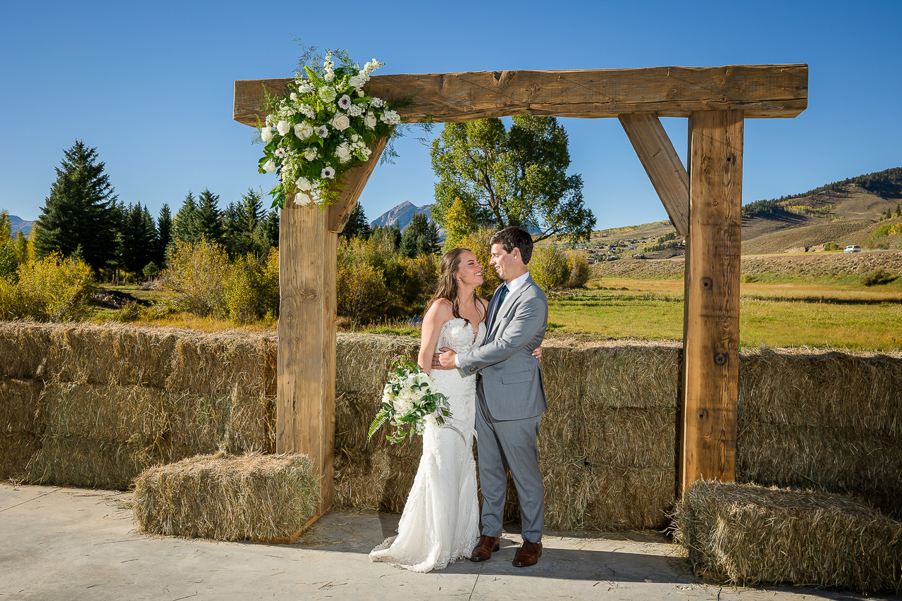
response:
[(306, 453), (322, 502), (335, 499), (336, 249), (328, 212), (288, 204), (279, 226), (276, 450)]

